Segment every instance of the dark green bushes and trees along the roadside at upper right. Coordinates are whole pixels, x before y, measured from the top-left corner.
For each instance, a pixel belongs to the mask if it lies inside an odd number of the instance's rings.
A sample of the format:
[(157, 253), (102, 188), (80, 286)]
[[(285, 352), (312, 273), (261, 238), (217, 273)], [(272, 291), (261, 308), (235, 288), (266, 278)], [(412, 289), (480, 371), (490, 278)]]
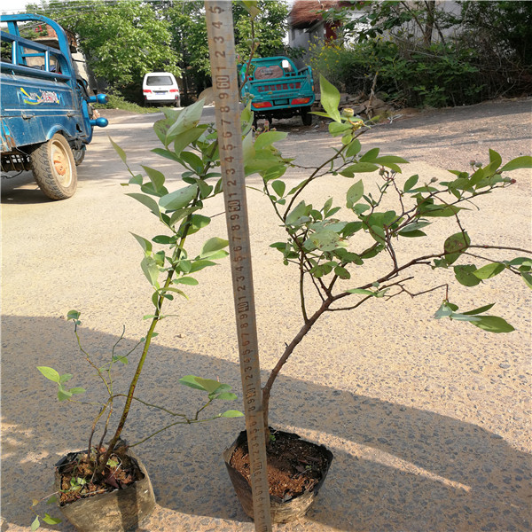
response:
[[(436, 0), (342, 3), (343, 40), (313, 51), (317, 72), (344, 90), (405, 106), (471, 105), (532, 90), (532, 3)], [(356, 17), (353, 15), (356, 14)]]

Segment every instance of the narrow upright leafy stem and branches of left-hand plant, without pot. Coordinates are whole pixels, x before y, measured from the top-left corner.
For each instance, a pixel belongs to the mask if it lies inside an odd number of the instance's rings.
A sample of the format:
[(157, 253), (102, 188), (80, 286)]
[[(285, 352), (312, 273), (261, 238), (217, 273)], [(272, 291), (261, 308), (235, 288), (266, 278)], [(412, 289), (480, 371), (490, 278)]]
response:
[[(121, 434), (129, 419), (129, 413), (134, 402), (165, 411), (168, 415), (179, 419), (160, 428), (153, 434), (145, 436), (140, 442), (133, 445), (145, 442), (171, 426), (204, 423), (213, 419), (234, 418), (242, 415), (240, 411), (227, 410), (203, 417), (211, 403), (234, 401), (237, 396), (231, 393), (231, 387), (227, 384), (192, 375), (180, 379), (180, 382), (187, 387), (207, 393), (207, 401), (193, 415), (185, 415), (170, 411), (163, 406), (147, 403), (136, 395), (137, 383), (149, 355), (152, 340), (157, 336), (156, 327), (160, 320), (170, 316), (164, 314), (163, 309), (166, 309), (168, 302), (173, 301), (176, 296), (185, 300), (188, 299), (184, 290), (186, 287), (199, 284), (196, 274), (201, 270), (215, 266), (216, 261), (223, 259), (228, 254), (225, 249), (228, 241), (218, 237), (207, 239), (201, 247), (200, 253), (196, 256), (189, 254), (186, 249), (186, 244), (192, 235), (207, 227), (211, 221), (211, 218), (202, 211), (204, 203), (222, 190), (221, 174), (216, 171), (216, 167), (219, 166), (216, 132), (208, 124), (200, 124), (202, 111), (202, 100), (184, 110), (165, 109), (165, 118), (154, 124), (155, 132), (163, 147), (155, 148), (153, 152), (184, 167), (182, 180), (186, 186), (173, 192), (168, 191), (166, 177), (156, 168), (143, 166), (143, 174), (134, 172), (129, 167), (126, 153), (111, 140), (114, 149), (129, 171), (129, 182), (124, 186), (137, 186), (140, 189), (139, 192), (128, 192), (127, 195), (137, 200), (157, 217), (162, 231), (161, 234), (157, 234), (151, 239), (132, 233), (144, 252), (140, 268), (153, 288), (151, 298), (153, 310), (144, 317), (145, 320), (149, 320), (148, 330), (145, 337), (139, 340), (133, 348), (126, 349), (125, 353), (119, 352), (118, 349), (124, 336), (124, 331), (122, 331), (121, 337), (111, 348), (108, 359), (103, 364), (97, 363), (82, 347), (78, 333), (78, 327), (81, 325), (80, 312), (72, 310), (68, 313), (67, 318), (74, 322), (74, 334), (78, 347), (102, 383), (106, 392), (106, 399), (104, 401), (83, 402), (78, 397), (85, 393), (84, 388), (66, 386), (66, 383), (72, 379), (72, 374), (60, 374), (57, 370), (47, 366), (38, 367), (44, 377), (58, 385), (59, 401), (98, 407), (98, 413), (90, 428), (89, 444), (85, 452), (87, 459), (93, 466), (91, 473), (93, 478), (102, 476), (106, 465), (112, 459), (113, 452), (118, 443), (121, 442)], [(129, 383), (129, 389), (126, 393), (116, 393), (113, 389), (113, 370), (116, 364), (129, 364), (140, 346), (142, 346), (142, 351), (137, 359), (137, 367)], [(110, 430), (114, 400), (118, 397), (125, 397), (125, 403), (121, 417), (113, 429), (113, 436), (104, 447), (106, 434)], [(94, 434), (100, 425), (102, 429), (99, 443), (93, 445)]]

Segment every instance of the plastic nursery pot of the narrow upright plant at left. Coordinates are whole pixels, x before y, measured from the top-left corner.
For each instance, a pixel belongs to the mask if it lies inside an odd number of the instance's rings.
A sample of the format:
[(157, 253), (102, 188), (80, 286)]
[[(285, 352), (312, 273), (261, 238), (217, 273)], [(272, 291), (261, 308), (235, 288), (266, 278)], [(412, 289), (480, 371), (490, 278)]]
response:
[[(82, 451), (86, 452), (86, 451)], [(56, 464), (55, 488), (61, 485), (61, 470), (81, 454), (73, 452)], [(81, 532), (128, 532), (135, 530), (155, 508), (152, 482), (145, 465), (137, 455), (128, 450), (126, 455), (137, 465), (142, 478), (124, 489), (114, 489), (90, 497), (80, 498), (73, 503), (59, 505), (63, 514), (76, 530)]]

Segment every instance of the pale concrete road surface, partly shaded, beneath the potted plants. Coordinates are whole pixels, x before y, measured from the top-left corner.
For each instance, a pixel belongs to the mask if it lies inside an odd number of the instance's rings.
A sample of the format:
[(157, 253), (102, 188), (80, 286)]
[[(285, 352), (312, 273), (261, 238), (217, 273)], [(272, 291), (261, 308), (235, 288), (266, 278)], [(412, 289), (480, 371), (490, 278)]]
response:
[[(411, 164), (401, 179), (438, 179), (469, 160), (488, 160), (489, 148), (509, 160), (531, 153), (532, 100), (428, 111), (379, 124), (364, 150), (400, 155)], [(2, 189), (2, 532), (27, 531), (31, 501), (51, 493), (54, 464), (86, 444), (93, 408), (59, 403), (51, 382), (35, 369), (49, 365), (74, 374), (90, 389), (69, 309), (82, 311), (83, 347), (105, 359), (125, 325), (124, 347), (145, 334), (150, 286), (138, 264), (142, 250), (129, 231), (151, 237), (153, 215), (125, 196), (128, 178), (109, 145), (113, 137), (133, 168), (153, 166), (178, 187), (180, 170), (150, 152), (158, 145), (153, 115), (107, 113), (79, 168), (70, 200), (46, 200), (27, 173)], [(274, 127), (292, 133), (280, 145), (301, 164), (331, 153), (332, 141), (316, 121)], [(303, 174), (287, 176), (296, 183)], [(465, 215), (474, 240), (530, 248), (530, 170), (517, 183), (481, 199)], [(372, 177), (364, 183), (372, 185)], [(249, 184), (257, 186), (251, 177)], [(352, 181), (326, 177), (310, 200), (341, 203)], [(248, 192), (262, 379), (301, 325), (295, 272), (270, 243), (282, 237), (268, 204)], [(223, 200), (208, 207), (213, 222), (202, 235), (223, 236)], [(431, 236), (442, 245), (452, 221)], [(200, 242), (197, 243), (200, 246)], [(428, 246), (419, 243), (419, 246)], [(432, 248), (432, 247), (431, 247)], [(501, 254), (500, 259), (506, 258)], [(210, 271), (209, 271), (210, 270)], [(442, 293), (411, 300), (372, 301), (356, 313), (332, 313), (315, 325), (286, 364), (271, 400), (270, 424), (323, 443), (334, 453), (329, 475), (305, 519), (276, 532), (529, 532), (531, 298), (519, 278), (498, 276), (476, 288), (457, 286), (442, 271), (460, 309), (497, 301), (494, 313), (515, 326), (510, 334), (434, 320)], [(138, 394), (148, 403), (193, 411), (200, 395), (177, 379), (194, 374), (231, 384), (241, 397), (229, 263), (204, 270), (177, 317), (160, 324)], [(434, 286), (419, 271), (414, 292)], [(117, 375), (123, 389), (131, 365)], [(94, 390), (98, 390), (94, 384)], [(224, 405), (225, 406), (225, 405)], [(215, 407), (216, 408), (219, 407)], [(229, 408), (239, 408), (231, 403)], [(129, 442), (168, 421), (138, 408)], [(252, 532), (231, 488), (222, 452), (244, 427), (242, 419), (176, 426), (137, 448), (153, 481), (158, 505), (144, 532)], [(54, 509), (43, 512), (56, 514)], [(43, 514), (42, 512), (42, 514)], [(44, 528), (50, 528), (44, 525)], [(72, 532), (61, 523), (56, 529)]]

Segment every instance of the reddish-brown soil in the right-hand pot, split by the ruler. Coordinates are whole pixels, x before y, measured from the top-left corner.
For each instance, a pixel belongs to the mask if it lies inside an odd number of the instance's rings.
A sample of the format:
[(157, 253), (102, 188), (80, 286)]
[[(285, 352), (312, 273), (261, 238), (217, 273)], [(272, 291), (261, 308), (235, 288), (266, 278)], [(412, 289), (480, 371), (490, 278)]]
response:
[[(295, 434), (276, 433), (266, 448), (270, 495), (290, 500), (311, 491), (321, 480), (327, 466), (323, 451), (317, 445), (300, 440)], [(237, 447), (230, 465), (251, 484), (247, 442)]]

